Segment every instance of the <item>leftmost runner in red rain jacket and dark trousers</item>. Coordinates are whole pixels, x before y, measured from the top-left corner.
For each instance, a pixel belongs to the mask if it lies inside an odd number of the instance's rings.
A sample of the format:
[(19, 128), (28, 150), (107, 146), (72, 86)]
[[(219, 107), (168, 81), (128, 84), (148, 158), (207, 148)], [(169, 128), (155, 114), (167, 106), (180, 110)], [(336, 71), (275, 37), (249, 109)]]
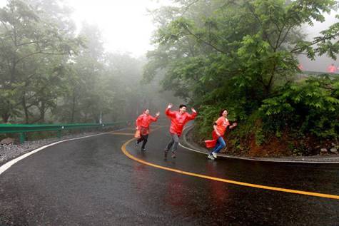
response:
[(141, 137), (136, 140), (136, 147), (138, 144), (143, 141), (143, 145), (141, 145), (141, 151), (146, 151), (145, 145), (148, 140), (148, 134), (150, 132), (150, 124), (156, 122), (159, 118), (160, 113), (156, 113), (156, 117), (153, 117), (149, 114), (149, 109), (145, 109), (141, 115), (136, 119), (136, 129), (140, 131)]

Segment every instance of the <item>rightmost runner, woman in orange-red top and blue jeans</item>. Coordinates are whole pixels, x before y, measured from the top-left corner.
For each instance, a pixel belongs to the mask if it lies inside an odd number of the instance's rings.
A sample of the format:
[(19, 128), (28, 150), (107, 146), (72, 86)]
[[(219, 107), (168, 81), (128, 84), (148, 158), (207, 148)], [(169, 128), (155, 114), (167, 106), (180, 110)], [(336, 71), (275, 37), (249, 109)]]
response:
[(216, 145), (214, 146), (211, 153), (209, 153), (208, 155), (208, 158), (211, 160), (214, 160), (215, 158), (217, 158), (216, 153), (219, 153), (221, 149), (226, 147), (226, 142), (223, 138), (223, 135), (225, 135), (226, 129), (228, 127), (231, 129), (238, 125), (237, 123), (233, 123), (232, 125), (230, 125), (227, 115), (228, 115), (228, 112), (226, 109), (221, 110), (219, 114), (220, 117), (218, 118), (218, 120), (216, 120), (216, 122), (213, 125), (213, 128), (214, 128), (213, 137), (215, 137), (216, 139)]

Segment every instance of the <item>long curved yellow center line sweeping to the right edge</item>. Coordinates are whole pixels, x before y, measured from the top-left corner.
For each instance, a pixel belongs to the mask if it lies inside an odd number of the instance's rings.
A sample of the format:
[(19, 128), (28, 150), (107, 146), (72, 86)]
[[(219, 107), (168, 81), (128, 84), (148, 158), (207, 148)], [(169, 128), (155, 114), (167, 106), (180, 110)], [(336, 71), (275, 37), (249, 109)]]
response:
[(183, 175), (190, 175), (196, 178), (204, 178), (204, 179), (208, 179), (208, 180), (216, 180), (216, 181), (221, 181), (223, 183), (231, 183), (234, 185), (241, 185), (241, 186), (246, 186), (246, 187), (251, 187), (251, 188), (260, 188), (260, 189), (265, 189), (265, 190), (275, 190), (275, 191), (279, 191), (279, 192), (288, 192), (288, 193), (294, 193), (294, 194), (299, 194), (299, 195), (310, 195), (310, 196), (315, 196), (315, 197), (326, 197), (326, 198), (331, 198), (331, 199), (335, 199), (335, 200), (339, 200), (339, 195), (329, 195), (329, 194), (323, 194), (323, 193), (317, 193), (317, 192), (306, 192), (306, 191), (302, 191), (302, 190), (292, 190), (292, 189), (287, 189), (287, 188), (275, 188), (275, 187), (270, 187), (270, 186), (265, 186), (265, 185), (256, 185), (256, 184), (251, 184), (251, 183), (243, 183), (240, 181), (236, 181), (236, 180), (227, 180), (227, 179), (223, 179), (223, 178), (214, 178), (208, 175), (201, 175), (201, 174), (197, 174), (197, 173), (191, 173), (191, 172), (187, 172), (187, 171), (183, 171), (183, 170), (177, 170), (174, 168), (168, 168), (168, 167), (164, 167), (162, 165), (156, 165), (153, 163), (148, 163), (144, 160), (141, 160), (139, 158), (136, 158), (135, 156), (131, 155), (130, 153), (128, 153), (128, 151), (126, 150), (126, 146), (128, 145), (128, 143), (130, 143), (132, 140), (134, 140), (135, 138), (132, 138), (131, 140), (127, 140), (126, 143), (124, 143), (121, 146), (121, 150), (122, 152), (128, 157), (131, 158), (132, 160), (137, 161), (138, 163), (142, 163), (145, 165), (149, 165), (151, 167), (154, 168), (159, 168), (162, 170), (168, 170), (168, 171), (172, 171), (175, 173), (180, 173)]

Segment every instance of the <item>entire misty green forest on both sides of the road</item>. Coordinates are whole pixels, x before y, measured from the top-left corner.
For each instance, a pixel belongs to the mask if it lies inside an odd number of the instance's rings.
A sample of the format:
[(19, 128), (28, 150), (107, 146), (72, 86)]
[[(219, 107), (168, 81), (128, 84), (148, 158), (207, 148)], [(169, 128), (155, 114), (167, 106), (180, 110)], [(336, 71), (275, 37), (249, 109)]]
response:
[(154, 49), (134, 58), (106, 51), (98, 26), (77, 29), (61, 0), (9, 0), (0, 9), (1, 123), (112, 122), (181, 99), (199, 112), (201, 143), (228, 109), (239, 125), (227, 134), (235, 155), (338, 145), (338, 76), (298, 68), (298, 56), (337, 59), (339, 23), (314, 38), (303, 30), (336, 1), (172, 3), (150, 11)]

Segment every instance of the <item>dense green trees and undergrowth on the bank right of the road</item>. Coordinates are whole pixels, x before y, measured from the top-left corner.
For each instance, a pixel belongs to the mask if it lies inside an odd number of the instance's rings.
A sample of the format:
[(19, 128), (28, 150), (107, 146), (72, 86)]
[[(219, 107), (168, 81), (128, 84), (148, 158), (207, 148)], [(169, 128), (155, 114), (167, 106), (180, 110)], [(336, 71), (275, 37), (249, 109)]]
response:
[(174, 2), (152, 11), (156, 49), (144, 80), (164, 74), (163, 89), (198, 108), (199, 142), (226, 108), (239, 125), (227, 138), (236, 155), (311, 155), (338, 145), (338, 76), (298, 76), (298, 56), (338, 56), (339, 23), (314, 38), (303, 32), (335, 1)]

